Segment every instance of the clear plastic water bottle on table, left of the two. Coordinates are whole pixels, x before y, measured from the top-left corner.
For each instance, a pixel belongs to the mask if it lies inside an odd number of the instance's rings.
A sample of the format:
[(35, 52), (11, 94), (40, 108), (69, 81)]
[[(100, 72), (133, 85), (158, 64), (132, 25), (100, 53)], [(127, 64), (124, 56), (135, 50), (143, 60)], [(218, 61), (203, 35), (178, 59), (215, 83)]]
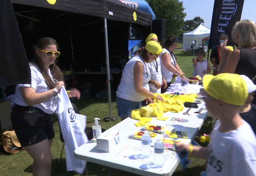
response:
[(148, 131), (144, 131), (144, 134), (141, 136), (141, 155), (144, 158), (149, 158), (151, 155), (151, 136), (148, 134)]

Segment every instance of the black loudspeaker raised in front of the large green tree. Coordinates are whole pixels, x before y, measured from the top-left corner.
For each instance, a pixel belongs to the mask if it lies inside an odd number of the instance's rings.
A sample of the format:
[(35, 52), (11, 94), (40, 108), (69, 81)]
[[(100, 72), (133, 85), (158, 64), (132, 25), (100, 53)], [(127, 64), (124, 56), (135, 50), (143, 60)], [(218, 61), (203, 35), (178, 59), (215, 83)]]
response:
[(164, 19), (152, 20), (152, 33), (158, 37), (158, 42), (165, 41), (165, 23)]

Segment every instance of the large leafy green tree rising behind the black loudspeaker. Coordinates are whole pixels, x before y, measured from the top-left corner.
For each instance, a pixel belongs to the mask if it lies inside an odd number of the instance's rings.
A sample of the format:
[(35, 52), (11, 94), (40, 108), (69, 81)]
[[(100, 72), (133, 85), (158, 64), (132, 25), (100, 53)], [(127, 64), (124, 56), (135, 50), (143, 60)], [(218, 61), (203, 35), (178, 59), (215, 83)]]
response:
[(156, 15), (156, 19), (165, 19), (165, 36), (174, 34), (180, 36), (183, 32), (184, 13), (183, 2), (179, 0), (146, 0)]

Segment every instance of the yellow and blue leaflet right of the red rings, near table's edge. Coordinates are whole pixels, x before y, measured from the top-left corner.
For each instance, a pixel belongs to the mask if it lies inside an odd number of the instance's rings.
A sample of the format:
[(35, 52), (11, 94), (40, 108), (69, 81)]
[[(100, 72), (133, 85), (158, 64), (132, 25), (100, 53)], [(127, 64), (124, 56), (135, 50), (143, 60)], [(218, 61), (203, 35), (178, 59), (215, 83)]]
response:
[(192, 130), (171, 128), (170, 130), (164, 131), (164, 138), (190, 138), (192, 133)]

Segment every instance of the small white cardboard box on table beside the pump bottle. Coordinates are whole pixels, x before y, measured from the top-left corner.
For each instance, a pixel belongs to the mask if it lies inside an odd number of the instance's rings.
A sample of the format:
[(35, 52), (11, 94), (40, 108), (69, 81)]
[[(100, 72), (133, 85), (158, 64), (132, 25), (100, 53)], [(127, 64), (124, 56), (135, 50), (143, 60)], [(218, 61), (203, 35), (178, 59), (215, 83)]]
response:
[(96, 142), (98, 151), (110, 152), (119, 143), (119, 131), (107, 130), (96, 139)]

